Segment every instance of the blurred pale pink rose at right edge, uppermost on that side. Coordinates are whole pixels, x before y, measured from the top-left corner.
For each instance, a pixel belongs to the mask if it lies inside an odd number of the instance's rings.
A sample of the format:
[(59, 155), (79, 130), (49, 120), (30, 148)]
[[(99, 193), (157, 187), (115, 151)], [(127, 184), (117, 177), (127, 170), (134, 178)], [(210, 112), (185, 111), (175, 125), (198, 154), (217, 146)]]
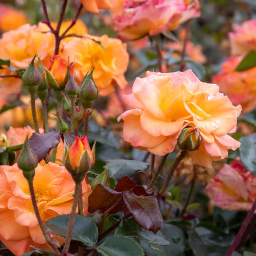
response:
[(229, 33), (232, 55), (242, 55), (256, 50), (256, 19), (247, 20), (241, 25), (234, 24), (234, 32)]

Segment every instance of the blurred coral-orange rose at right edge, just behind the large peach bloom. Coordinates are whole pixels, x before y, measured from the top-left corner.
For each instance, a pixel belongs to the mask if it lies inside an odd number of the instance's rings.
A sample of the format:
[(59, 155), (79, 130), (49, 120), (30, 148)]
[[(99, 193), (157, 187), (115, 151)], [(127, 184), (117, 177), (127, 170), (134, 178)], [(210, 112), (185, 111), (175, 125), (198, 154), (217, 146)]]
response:
[(220, 91), (227, 94), (233, 104), (242, 105), (242, 113), (254, 110), (256, 106), (256, 67), (246, 71), (235, 71), (244, 56), (230, 57), (222, 65), (222, 72), (212, 81), (220, 85)]

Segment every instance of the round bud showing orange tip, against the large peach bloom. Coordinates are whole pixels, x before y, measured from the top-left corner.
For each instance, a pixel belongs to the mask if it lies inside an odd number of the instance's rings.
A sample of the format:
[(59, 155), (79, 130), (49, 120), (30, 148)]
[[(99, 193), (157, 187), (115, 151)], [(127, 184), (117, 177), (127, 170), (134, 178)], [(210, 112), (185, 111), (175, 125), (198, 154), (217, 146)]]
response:
[(184, 128), (179, 138), (177, 139), (177, 144), (181, 150), (193, 151), (197, 150), (201, 144), (201, 136), (199, 129), (195, 127)]

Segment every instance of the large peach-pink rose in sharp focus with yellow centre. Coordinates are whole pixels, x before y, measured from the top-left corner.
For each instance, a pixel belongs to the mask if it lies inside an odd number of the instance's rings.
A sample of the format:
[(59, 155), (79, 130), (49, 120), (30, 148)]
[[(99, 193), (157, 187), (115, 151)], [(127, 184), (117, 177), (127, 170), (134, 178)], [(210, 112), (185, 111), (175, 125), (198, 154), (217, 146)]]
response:
[(125, 121), (123, 139), (162, 156), (174, 150), (184, 127), (197, 127), (202, 142), (189, 155), (194, 164), (211, 167), (212, 160), (224, 159), (228, 149), (240, 146), (228, 133), (236, 131), (241, 106), (233, 106), (218, 90), (215, 84), (199, 81), (191, 70), (148, 71), (146, 77), (135, 80), (133, 93), (123, 96), (133, 108), (118, 117)]

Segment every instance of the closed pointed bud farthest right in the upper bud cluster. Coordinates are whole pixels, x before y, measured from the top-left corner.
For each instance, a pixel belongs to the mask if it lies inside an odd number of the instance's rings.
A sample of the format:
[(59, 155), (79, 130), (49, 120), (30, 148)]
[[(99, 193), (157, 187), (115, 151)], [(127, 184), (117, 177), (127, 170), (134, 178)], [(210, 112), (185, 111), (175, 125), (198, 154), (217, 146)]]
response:
[[(94, 69), (93, 69), (94, 70)], [(93, 101), (98, 97), (98, 88), (93, 80), (93, 70), (87, 73), (80, 84), (80, 98), (84, 101)]]

